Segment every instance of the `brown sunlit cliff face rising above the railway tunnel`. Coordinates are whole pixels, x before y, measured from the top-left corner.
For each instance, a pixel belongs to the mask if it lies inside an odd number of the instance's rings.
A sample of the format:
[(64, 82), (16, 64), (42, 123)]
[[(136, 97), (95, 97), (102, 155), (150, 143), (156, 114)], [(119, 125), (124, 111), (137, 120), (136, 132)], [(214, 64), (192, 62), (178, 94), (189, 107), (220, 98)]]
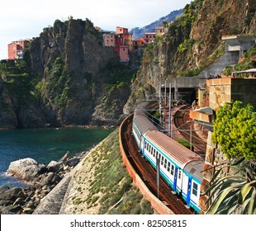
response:
[(168, 26), (168, 34), (145, 49), (132, 93), (124, 107), (129, 114), (136, 99), (159, 91), (159, 81), (197, 76), (224, 54), (223, 35), (255, 34), (255, 1), (195, 0)]

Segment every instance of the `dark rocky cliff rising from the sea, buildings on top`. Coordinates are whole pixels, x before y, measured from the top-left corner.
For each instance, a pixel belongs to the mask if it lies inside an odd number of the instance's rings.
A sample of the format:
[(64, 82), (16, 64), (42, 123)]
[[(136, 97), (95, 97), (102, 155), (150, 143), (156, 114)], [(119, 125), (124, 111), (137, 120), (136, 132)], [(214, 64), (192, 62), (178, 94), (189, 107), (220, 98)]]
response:
[[(133, 70), (119, 64), (118, 54), (103, 45), (91, 21), (56, 20), (31, 41), (24, 60), (21, 73), (27, 78), (17, 78), (9, 68), (1, 74), (0, 127), (90, 125), (92, 114), (94, 125), (118, 123)], [(111, 101), (101, 106), (106, 96), (118, 101), (112, 108), (116, 114), (107, 112)], [(105, 110), (97, 114), (98, 108)]]

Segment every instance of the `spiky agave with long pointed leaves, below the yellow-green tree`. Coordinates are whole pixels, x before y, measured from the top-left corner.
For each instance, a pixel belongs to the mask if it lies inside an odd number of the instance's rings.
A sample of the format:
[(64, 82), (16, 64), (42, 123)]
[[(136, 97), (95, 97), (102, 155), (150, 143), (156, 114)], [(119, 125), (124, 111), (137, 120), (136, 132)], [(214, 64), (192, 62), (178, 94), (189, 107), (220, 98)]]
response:
[[(241, 166), (242, 164), (242, 166)], [(220, 177), (225, 167), (235, 170), (235, 175)], [(223, 165), (210, 181), (205, 195), (210, 203), (206, 214), (256, 214), (255, 167), (244, 158), (235, 163)]]

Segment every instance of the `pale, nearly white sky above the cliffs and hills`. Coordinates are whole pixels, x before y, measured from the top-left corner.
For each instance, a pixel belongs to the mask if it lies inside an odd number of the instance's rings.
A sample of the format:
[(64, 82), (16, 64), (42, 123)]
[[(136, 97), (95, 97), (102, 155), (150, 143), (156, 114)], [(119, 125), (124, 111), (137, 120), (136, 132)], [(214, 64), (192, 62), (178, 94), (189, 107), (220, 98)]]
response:
[(12, 0), (0, 7), (0, 59), (7, 59), (7, 45), (38, 37), (45, 27), (60, 21), (88, 18), (94, 26), (116, 31), (116, 26), (143, 27), (179, 10), (192, 0)]

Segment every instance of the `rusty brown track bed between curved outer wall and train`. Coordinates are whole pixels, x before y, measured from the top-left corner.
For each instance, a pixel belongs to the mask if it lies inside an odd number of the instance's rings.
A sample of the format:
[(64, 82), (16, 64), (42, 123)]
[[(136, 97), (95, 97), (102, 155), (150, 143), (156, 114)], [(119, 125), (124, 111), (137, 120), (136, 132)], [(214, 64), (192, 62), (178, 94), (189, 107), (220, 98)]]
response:
[(159, 195), (159, 200), (162, 200), (174, 214), (193, 214), (191, 210), (183, 204), (182, 199), (174, 195), (169, 186), (161, 178), (159, 182), (159, 189), (156, 181), (155, 169), (141, 156), (139, 148), (135, 143), (135, 139), (131, 135), (132, 120), (128, 120), (123, 125), (121, 130), (121, 142), (126, 152), (127, 158), (130, 160), (131, 165), (134, 167), (137, 174), (141, 179), (144, 179), (145, 185), (155, 195)]

